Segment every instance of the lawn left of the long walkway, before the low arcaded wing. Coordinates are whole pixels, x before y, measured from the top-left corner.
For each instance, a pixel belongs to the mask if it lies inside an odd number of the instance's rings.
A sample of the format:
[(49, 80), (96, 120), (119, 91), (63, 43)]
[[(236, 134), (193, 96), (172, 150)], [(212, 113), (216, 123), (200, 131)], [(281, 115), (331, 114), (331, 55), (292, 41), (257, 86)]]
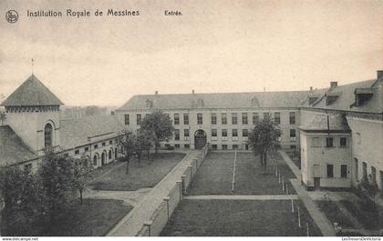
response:
[(181, 153), (159, 153), (142, 158), (140, 166), (138, 160), (130, 161), (129, 174), (126, 175), (126, 163), (116, 163), (96, 170), (89, 186), (97, 190), (135, 191), (141, 187), (156, 186), (171, 169), (184, 157)]

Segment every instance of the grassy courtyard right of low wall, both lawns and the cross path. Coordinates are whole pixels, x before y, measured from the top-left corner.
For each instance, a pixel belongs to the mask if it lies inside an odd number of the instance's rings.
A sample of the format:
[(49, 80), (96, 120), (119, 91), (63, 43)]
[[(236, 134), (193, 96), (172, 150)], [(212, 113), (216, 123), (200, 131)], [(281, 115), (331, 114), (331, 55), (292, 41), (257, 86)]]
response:
[[(264, 171), (253, 153), (238, 152), (233, 191), (234, 158), (234, 152), (206, 156), (160, 236), (322, 235), (295, 195), (289, 182), (295, 176), (282, 156), (270, 155)], [(288, 195), (274, 166), (288, 183)]]

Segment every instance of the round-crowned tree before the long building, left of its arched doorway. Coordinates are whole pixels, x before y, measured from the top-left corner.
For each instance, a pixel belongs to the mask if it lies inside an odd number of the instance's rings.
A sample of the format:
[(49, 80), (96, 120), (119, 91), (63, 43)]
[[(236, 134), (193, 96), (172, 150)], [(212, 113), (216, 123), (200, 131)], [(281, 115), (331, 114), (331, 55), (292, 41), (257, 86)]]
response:
[(154, 150), (158, 153), (160, 142), (171, 138), (174, 127), (171, 124), (169, 115), (163, 114), (160, 110), (156, 110), (150, 115), (146, 115), (141, 122), (141, 129), (150, 133), (153, 137)]

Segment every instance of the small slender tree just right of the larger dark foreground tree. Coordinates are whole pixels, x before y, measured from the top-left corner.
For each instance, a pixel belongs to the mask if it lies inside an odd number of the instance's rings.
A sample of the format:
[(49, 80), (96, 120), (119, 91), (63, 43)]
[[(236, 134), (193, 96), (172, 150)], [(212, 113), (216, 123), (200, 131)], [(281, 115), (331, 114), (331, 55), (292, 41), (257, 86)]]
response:
[(73, 165), (73, 185), (79, 192), (80, 204), (83, 204), (82, 194), (84, 192), (85, 187), (87, 186), (88, 177), (93, 170), (93, 164), (91, 161), (85, 157), (81, 156), (80, 159), (74, 160)]

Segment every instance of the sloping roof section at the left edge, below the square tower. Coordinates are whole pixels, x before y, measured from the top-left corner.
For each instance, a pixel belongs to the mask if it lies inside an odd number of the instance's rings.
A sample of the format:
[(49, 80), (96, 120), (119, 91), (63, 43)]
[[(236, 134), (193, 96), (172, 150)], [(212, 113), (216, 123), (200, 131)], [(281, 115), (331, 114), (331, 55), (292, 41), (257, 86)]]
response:
[(0, 126), (0, 166), (15, 165), (36, 157), (10, 126)]

